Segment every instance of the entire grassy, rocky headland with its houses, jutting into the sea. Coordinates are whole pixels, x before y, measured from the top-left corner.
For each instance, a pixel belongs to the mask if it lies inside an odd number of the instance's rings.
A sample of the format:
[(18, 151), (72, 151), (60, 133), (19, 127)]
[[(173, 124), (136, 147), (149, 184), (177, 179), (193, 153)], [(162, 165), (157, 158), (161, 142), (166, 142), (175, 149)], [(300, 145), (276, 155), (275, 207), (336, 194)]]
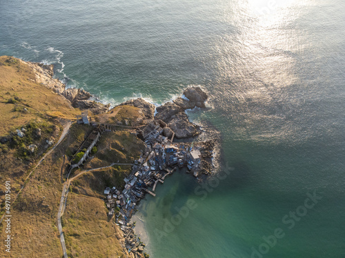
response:
[(215, 142), (197, 140), (202, 130), (186, 114), (206, 107), (200, 87), (159, 107), (136, 98), (110, 109), (66, 89), (52, 65), (1, 56), (0, 78), (12, 257), (148, 257), (129, 224), (139, 200), (177, 168), (196, 178), (213, 172)]

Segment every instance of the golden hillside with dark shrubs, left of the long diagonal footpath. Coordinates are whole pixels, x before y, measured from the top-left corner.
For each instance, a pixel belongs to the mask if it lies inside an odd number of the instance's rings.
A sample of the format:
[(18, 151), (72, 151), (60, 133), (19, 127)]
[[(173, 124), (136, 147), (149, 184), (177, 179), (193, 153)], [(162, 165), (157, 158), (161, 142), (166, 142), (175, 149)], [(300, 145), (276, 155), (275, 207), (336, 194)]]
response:
[[(26, 63), (0, 56), (0, 114), (0, 180), (11, 180), (15, 193), (35, 162), (59, 139), (61, 118), (75, 118), (80, 111), (36, 83), (34, 72)], [(24, 133), (23, 138), (17, 130)], [(3, 187), (1, 184), (0, 200)]]

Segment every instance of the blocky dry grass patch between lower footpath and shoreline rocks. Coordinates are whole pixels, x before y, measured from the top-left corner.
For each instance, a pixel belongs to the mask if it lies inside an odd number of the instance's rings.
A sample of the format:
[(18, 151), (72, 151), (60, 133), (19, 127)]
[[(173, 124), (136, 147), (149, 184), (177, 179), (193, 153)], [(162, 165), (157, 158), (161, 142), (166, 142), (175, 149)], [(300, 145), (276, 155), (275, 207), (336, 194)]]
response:
[(63, 230), (68, 257), (124, 257), (117, 239), (119, 230), (108, 222), (104, 201), (98, 197), (68, 194)]

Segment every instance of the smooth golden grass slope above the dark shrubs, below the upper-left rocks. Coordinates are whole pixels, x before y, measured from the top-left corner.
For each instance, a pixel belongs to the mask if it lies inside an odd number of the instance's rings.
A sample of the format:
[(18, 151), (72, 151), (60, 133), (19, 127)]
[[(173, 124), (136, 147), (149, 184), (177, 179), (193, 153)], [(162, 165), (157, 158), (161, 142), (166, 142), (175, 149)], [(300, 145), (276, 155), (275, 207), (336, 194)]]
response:
[[(8, 61), (10, 60), (10, 61)], [(15, 103), (8, 103), (17, 97)], [(28, 109), (29, 112), (14, 111)], [(74, 119), (80, 114), (65, 98), (35, 82), (32, 69), (17, 58), (0, 56), (0, 136), (42, 115)]]

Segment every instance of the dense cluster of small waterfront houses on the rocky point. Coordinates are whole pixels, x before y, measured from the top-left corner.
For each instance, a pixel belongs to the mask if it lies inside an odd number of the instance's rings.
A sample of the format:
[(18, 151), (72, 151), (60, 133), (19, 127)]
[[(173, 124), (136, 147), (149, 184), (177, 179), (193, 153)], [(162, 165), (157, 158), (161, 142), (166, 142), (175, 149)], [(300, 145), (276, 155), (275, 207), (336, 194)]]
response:
[[(193, 143), (172, 142), (173, 136), (169, 139), (162, 133), (163, 128), (158, 122), (147, 125), (143, 135), (146, 150), (139, 160), (135, 160), (132, 173), (124, 179), (124, 190), (120, 191), (116, 187), (104, 190), (108, 215), (116, 215), (116, 222), (124, 232), (130, 226), (128, 223), (137, 203), (146, 193), (155, 196), (153, 192), (157, 183), (164, 183), (166, 175), (172, 173), (177, 166), (186, 166), (193, 173), (201, 161), (199, 147), (193, 147)], [(126, 248), (130, 250), (131, 245)]]

